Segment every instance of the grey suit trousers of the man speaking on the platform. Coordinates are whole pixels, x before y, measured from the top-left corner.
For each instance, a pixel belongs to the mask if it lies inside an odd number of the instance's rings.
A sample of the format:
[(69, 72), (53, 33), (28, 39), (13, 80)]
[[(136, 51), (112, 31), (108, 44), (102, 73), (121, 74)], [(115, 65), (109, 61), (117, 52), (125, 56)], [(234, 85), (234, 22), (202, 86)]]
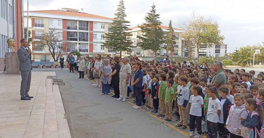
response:
[(25, 97), (29, 96), (28, 92), (30, 89), (31, 82), (31, 70), (30, 71), (21, 71), (21, 86), (20, 86), (20, 96)]

